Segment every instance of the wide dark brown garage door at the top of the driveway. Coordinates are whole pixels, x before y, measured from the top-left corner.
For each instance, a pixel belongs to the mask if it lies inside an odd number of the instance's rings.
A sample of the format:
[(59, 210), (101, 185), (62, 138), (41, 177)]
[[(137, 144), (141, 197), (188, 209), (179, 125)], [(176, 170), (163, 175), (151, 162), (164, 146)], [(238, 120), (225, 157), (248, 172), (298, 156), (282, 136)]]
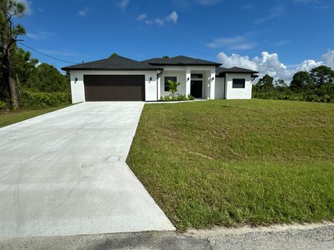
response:
[(84, 75), (86, 101), (145, 101), (144, 75)]

